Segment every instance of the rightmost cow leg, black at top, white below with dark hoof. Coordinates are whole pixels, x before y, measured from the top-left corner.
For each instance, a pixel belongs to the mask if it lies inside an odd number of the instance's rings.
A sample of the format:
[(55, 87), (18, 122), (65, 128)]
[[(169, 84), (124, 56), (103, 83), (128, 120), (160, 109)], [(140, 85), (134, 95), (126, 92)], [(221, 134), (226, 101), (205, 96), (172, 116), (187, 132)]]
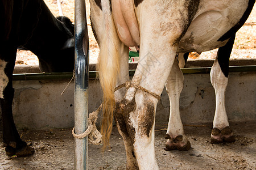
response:
[(225, 108), (225, 91), (228, 85), (229, 56), (232, 52), (235, 36), (231, 37), (225, 46), (218, 49), (217, 58), (210, 71), (210, 80), (215, 90), (216, 109), (211, 134), (212, 143), (234, 142), (232, 130), (229, 127)]

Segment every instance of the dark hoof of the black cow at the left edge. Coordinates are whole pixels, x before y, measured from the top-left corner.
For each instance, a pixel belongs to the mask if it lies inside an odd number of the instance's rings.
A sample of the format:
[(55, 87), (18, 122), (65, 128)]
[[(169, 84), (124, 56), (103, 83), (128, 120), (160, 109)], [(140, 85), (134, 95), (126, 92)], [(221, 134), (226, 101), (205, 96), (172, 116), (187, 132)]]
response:
[(6, 146), (5, 152), (8, 156), (16, 155), (17, 157), (24, 157), (33, 155), (35, 150), (34, 148), (28, 146), (26, 142), (23, 142), (22, 146), (16, 148), (10, 145)]

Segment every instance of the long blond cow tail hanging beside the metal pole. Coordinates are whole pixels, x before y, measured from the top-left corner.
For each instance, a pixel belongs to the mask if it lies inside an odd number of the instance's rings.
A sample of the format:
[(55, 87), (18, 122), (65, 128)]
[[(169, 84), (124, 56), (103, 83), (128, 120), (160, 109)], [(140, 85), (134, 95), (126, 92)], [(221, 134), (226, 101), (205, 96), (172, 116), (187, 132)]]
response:
[(100, 83), (103, 90), (101, 133), (105, 148), (109, 145), (109, 138), (113, 126), (113, 112), (115, 109), (114, 88), (119, 74), (119, 53), (117, 48), (119, 38), (112, 17), (110, 1), (102, 0), (101, 5), (104, 13), (104, 31), (101, 33), (100, 56), (98, 58), (97, 70), (99, 71)]

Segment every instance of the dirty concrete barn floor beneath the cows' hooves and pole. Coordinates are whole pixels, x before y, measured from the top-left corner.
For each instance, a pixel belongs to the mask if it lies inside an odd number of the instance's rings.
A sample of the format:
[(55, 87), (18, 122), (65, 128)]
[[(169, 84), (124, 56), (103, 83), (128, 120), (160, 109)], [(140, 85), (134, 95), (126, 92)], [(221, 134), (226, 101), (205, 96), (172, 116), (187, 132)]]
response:
[[(160, 169), (255, 169), (256, 122), (231, 123), (236, 142), (210, 144), (211, 124), (184, 126), (191, 142), (189, 151), (164, 151), (165, 130), (155, 132), (156, 159)], [(156, 129), (163, 127), (156, 126)], [(126, 157), (121, 136), (113, 128), (111, 150), (103, 155), (100, 146), (89, 145), (88, 169), (125, 169)], [(0, 169), (73, 169), (71, 129), (22, 130), (22, 139), (35, 148), (26, 158), (10, 158), (0, 148)], [(2, 133), (0, 135), (2, 140)], [(2, 142), (1, 146), (2, 146)]]

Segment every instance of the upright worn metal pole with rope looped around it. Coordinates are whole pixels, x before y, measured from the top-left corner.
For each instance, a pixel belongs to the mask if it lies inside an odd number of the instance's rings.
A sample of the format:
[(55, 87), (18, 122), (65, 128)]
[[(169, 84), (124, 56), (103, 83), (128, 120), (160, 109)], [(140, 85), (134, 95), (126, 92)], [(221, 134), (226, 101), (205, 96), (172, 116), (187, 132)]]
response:
[[(75, 133), (87, 128), (89, 38), (86, 23), (85, 1), (75, 0)], [(75, 138), (75, 169), (88, 169), (88, 137)]]

